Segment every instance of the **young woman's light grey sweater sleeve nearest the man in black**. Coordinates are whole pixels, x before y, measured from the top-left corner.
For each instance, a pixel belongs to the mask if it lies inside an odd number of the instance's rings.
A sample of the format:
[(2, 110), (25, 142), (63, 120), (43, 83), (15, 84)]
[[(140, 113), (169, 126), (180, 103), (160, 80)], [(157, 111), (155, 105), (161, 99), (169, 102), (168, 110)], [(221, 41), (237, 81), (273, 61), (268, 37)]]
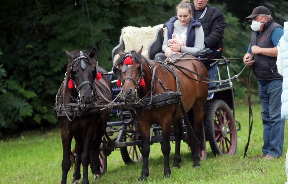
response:
[[(168, 41), (167, 41), (167, 43), (168, 43)], [(181, 53), (188, 52), (188, 53), (192, 54), (193, 56), (197, 56), (197, 52), (199, 50), (203, 49), (203, 44), (204, 44), (204, 31), (203, 31), (203, 28), (202, 28), (202, 26), (195, 27), (194, 47), (183, 46)], [(162, 46), (162, 49), (163, 49), (163, 46)]]

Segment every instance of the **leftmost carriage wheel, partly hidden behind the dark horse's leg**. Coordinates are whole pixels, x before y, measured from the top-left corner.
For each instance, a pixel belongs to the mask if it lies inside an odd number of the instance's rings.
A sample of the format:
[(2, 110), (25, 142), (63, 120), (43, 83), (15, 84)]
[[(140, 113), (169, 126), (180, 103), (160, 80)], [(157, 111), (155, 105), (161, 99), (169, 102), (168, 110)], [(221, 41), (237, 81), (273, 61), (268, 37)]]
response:
[[(102, 140), (105, 140), (104, 136), (102, 137)], [(100, 173), (101, 175), (104, 175), (104, 173), (107, 171), (107, 156), (105, 154), (105, 144), (103, 142), (101, 142), (98, 155), (99, 155)], [(92, 151), (90, 151), (90, 169), (94, 175), (94, 171), (92, 167), (93, 164), (94, 164), (94, 154)]]

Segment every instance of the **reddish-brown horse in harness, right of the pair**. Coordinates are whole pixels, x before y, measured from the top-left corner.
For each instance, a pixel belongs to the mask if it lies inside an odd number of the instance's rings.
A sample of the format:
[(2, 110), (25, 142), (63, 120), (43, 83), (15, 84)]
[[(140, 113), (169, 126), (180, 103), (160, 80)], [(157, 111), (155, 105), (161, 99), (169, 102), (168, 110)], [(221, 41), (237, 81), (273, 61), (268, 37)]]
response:
[[(161, 62), (151, 61), (148, 58), (144, 58), (142, 55), (142, 48), (136, 53), (134, 50), (129, 53), (119, 53), (120, 57), (115, 62), (113, 67), (113, 73), (118, 78), (118, 85), (122, 85), (123, 94), (121, 98), (123, 100), (135, 101), (136, 95), (138, 98), (146, 97), (149, 94), (157, 95), (161, 93), (168, 93), (169, 91), (177, 91), (179, 86), (176, 85), (176, 79), (172, 75), (176, 73), (177, 80), (180, 83), (180, 91), (182, 94), (182, 103), (187, 113), (188, 110), (193, 110), (194, 131), (196, 137), (201, 140), (200, 129), (203, 123), (203, 110), (207, 101), (208, 83), (198, 82), (189, 79), (179, 69), (175, 67), (164, 67)], [(179, 55), (175, 55), (170, 59), (176, 58)], [(187, 59), (187, 57), (191, 59)], [(191, 71), (196, 72), (199, 75), (208, 77), (208, 72), (203, 63), (194, 56), (185, 56), (186, 59), (180, 59), (175, 64), (182, 66)], [(169, 60), (168, 60), (169, 61)], [(171, 72), (169, 71), (171, 70)], [(199, 76), (185, 71), (186, 75), (191, 78), (201, 80)], [(144, 81), (143, 81), (144, 80)], [(153, 101), (153, 100), (152, 100)], [(150, 101), (151, 102), (151, 101)], [(148, 157), (150, 153), (150, 128), (153, 123), (158, 123), (162, 128), (162, 144), (161, 151), (164, 155), (164, 177), (170, 177), (171, 169), (169, 166), (169, 154), (170, 154), (170, 134), (171, 126), (173, 125), (175, 136), (175, 156), (173, 161), (173, 167), (180, 168), (180, 141), (182, 136), (182, 126), (180, 124), (180, 117), (183, 116), (181, 110), (177, 110), (178, 104), (169, 104), (154, 107), (152, 109), (145, 109), (141, 112), (137, 111), (138, 127), (142, 138), (142, 156), (143, 165), (141, 176), (138, 180), (146, 180), (149, 175)], [(179, 108), (180, 109), (180, 108)], [(191, 121), (191, 120), (190, 120)], [(192, 135), (188, 134), (187, 143), (191, 148), (193, 140)], [(189, 141), (190, 140), (190, 141)], [(200, 166), (200, 156), (198, 152), (198, 143), (194, 144), (194, 148), (191, 148), (193, 154), (193, 166)]]

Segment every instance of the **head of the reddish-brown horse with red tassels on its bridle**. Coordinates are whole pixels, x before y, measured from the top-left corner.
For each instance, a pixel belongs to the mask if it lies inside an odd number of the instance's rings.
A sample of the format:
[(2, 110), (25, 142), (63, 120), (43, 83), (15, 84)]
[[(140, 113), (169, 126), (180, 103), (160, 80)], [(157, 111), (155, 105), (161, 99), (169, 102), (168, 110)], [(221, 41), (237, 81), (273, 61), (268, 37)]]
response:
[(136, 53), (119, 53), (120, 57), (113, 66), (113, 73), (117, 77), (117, 85), (122, 85), (122, 100), (133, 101), (139, 87), (144, 86), (144, 57), (141, 55), (142, 48)]

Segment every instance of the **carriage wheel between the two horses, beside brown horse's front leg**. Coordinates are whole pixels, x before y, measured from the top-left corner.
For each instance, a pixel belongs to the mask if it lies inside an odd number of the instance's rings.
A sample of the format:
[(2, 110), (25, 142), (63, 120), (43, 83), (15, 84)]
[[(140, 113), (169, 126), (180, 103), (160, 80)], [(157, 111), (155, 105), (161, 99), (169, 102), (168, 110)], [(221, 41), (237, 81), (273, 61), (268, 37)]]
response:
[[(126, 130), (130, 130), (132, 133), (123, 132), (122, 138), (125, 142), (139, 140), (133, 125), (128, 125)], [(120, 151), (125, 164), (134, 164), (142, 160), (142, 145), (121, 147)]]

